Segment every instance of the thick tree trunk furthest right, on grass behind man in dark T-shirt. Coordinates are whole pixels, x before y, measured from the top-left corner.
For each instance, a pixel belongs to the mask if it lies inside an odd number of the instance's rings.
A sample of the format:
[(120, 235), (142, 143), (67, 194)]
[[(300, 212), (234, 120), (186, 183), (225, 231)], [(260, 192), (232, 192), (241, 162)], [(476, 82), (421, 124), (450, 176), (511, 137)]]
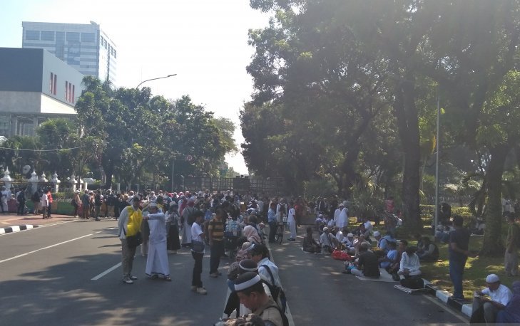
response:
[(504, 173), (504, 162), (509, 147), (499, 146), (489, 150), (491, 159), (486, 171), (488, 199), (486, 202), (486, 230), (484, 231), (484, 243), (482, 254), (484, 256), (496, 256), (504, 253), (502, 243), (502, 174)]

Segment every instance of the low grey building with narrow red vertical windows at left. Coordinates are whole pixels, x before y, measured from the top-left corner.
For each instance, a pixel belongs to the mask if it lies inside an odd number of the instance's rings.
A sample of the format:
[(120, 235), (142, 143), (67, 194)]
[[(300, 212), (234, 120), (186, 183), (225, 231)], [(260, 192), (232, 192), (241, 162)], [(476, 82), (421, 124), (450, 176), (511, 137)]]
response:
[(0, 136), (33, 136), (41, 122), (72, 118), (83, 74), (41, 48), (0, 48)]

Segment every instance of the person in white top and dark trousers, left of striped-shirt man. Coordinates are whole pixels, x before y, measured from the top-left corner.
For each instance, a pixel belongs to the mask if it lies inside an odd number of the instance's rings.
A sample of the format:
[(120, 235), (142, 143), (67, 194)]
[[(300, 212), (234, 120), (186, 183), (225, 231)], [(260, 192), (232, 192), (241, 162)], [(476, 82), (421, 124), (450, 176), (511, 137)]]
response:
[[(191, 248), (191, 256), (195, 261), (193, 265), (193, 273), (191, 276), (191, 290), (198, 294), (208, 294), (208, 291), (203, 287), (200, 274), (202, 274), (202, 260), (204, 258), (204, 231), (200, 227), (204, 221), (203, 211), (195, 211), (190, 216), (190, 219), (195, 219), (191, 224), (190, 238), (193, 243)], [(188, 223), (189, 224), (189, 223)]]

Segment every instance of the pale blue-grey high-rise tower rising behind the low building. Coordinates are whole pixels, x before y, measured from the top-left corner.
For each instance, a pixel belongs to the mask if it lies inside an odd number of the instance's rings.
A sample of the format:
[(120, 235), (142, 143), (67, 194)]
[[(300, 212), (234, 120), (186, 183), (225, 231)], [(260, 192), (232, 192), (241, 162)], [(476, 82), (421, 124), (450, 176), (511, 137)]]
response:
[(83, 75), (116, 85), (116, 44), (97, 23), (22, 22), (22, 48), (44, 48)]

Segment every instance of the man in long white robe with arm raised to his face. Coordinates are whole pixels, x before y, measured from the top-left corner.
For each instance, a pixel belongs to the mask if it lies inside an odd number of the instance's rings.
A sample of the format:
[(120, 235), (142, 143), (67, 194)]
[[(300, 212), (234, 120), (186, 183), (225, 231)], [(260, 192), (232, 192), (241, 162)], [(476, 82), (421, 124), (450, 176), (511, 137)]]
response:
[(155, 279), (162, 275), (164, 280), (171, 281), (166, 251), (166, 217), (158, 210), (157, 204), (152, 203), (148, 207), (150, 214), (143, 216), (143, 220), (148, 221), (150, 227), (145, 273), (149, 278)]

